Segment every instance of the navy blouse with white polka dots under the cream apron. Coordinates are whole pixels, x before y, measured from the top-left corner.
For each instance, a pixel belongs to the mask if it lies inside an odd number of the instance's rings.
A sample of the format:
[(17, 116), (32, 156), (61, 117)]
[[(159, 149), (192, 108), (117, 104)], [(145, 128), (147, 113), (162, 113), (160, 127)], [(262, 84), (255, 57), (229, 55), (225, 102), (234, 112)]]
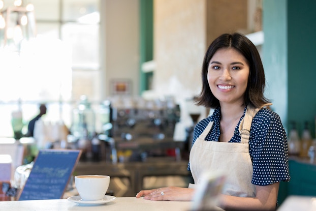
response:
[[(246, 108), (243, 116), (245, 115), (245, 111)], [(240, 142), (241, 138), (238, 128), (242, 117), (235, 128), (234, 136), (229, 142)], [(211, 116), (201, 120), (195, 126), (193, 144), (210, 121), (214, 123), (205, 140), (218, 141), (220, 134), (219, 120), (220, 108), (215, 109)], [(249, 154), (254, 169), (251, 180), (252, 184), (265, 186), (290, 180), (287, 135), (278, 114), (263, 108), (252, 119)], [(189, 164), (188, 170), (190, 170)]]

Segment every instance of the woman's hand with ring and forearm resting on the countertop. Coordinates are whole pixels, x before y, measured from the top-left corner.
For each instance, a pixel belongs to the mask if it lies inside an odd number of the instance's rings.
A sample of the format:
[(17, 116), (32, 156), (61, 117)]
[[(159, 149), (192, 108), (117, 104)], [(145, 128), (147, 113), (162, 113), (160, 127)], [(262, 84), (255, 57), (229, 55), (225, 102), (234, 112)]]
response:
[(136, 194), (136, 198), (144, 196), (144, 199), (152, 201), (168, 200), (168, 201), (191, 201), (195, 189), (165, 187), (159, 189), (140, 191)]

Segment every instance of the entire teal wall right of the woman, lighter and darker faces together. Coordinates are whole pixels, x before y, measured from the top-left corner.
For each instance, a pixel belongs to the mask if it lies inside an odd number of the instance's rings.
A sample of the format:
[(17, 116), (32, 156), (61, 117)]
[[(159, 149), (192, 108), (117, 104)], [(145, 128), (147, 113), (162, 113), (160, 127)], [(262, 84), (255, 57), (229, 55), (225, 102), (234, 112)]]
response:
[(263, 63), (267, 97), (289, 134), (295, 121), (301, 134), (305, 121), (315, 137), (316, 1), (263, 1)]

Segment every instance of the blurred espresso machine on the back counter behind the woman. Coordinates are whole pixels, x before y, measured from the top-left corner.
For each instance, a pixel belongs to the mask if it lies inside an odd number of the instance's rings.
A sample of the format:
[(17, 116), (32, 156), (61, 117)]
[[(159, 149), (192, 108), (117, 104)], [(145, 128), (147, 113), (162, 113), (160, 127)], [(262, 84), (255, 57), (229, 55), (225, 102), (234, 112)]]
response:
[(179, 105), (172, 99), (118, 101), (112, 102), (111, 119), (119, 161), (168, 156), (178, 156), (179, 159), (182, 143), (173, 140), (175, 125), (180, 118)]

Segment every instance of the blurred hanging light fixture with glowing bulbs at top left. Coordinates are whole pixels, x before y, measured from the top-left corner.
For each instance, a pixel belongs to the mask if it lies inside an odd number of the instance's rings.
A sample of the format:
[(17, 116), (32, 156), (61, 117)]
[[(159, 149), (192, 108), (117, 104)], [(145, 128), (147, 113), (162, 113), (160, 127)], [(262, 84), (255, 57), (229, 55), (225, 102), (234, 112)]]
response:
[(36, 37), (34, 6), (22, 0), (6, 6), (0, 0), (0, 47), (19, 50), (21, 42), (32, 37)]

